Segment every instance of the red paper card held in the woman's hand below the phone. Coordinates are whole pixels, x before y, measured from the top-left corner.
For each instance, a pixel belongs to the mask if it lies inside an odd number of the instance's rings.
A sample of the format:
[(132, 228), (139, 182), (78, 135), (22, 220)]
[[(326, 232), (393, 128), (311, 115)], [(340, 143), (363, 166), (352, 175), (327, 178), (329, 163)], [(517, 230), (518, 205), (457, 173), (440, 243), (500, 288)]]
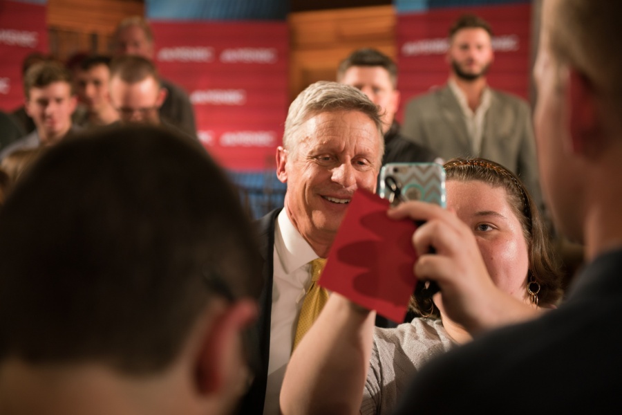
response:
[(319, 284), (401, 323), (417, 279), (413, 221), (388, 219), (389, 203), (357, 190), (334, 239)]

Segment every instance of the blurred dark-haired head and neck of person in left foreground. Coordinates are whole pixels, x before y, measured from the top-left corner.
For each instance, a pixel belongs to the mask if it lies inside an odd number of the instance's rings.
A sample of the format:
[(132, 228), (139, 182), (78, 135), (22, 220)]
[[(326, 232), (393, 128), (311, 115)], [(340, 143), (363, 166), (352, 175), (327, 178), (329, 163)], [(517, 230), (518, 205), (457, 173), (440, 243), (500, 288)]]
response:
[(263, 286), (236, 191), (167, 129), (84, 138), (0, 210), (0, 414), (232, 413)]

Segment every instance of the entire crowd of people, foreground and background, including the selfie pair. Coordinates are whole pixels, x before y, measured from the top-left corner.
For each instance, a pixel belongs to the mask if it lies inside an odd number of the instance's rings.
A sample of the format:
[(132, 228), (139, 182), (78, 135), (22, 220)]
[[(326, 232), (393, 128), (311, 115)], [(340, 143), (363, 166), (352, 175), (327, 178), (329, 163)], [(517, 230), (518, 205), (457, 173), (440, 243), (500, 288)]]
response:
[[(0, 413), (617, 407), (622, 5), (545, 0), (542, 16), (533, 127), (487, 85), (478, 17), (449, 30), (447, 85), (408, 102), (403, 129), (395, 63), (355, 50), (290, 105), (285, 201), (257, 221), (194, 117), (171, 116), (187, 96), (142, 19), (112, 59), (25, 65), (34, 125), (10, 118), (0, 153)], [(391, 162), (446, 172), (446, 208), (386, 211), (419, 224), (412, 272), (439, 288), (398, 322), (317, 283), (352, 197)], [(566, 292), (553, 230), (585, 248)]]

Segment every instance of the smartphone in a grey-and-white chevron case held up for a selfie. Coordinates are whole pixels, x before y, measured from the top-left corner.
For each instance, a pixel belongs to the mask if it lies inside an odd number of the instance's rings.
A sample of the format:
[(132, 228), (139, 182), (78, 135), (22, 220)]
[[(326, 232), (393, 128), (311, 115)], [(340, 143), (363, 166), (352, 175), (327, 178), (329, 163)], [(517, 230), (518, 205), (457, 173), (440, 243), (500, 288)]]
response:
[(445, 169), (438, 163), (387, 163), (380, 169), (378, 194), (391, 205), (424, 201), (444, 208)]

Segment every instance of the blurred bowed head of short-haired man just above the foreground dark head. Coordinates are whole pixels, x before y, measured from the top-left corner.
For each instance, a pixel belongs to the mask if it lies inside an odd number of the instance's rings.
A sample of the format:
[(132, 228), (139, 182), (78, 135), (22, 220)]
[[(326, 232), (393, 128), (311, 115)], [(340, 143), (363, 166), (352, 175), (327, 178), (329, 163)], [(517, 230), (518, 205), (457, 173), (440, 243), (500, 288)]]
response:
[(160, 86), (158, 70), (149, 59), (133, 55), (113, 59), (110, 98), (121, 122), (172, 127), (160, 118), (158, 110), (167, 98), (167, 90)]

